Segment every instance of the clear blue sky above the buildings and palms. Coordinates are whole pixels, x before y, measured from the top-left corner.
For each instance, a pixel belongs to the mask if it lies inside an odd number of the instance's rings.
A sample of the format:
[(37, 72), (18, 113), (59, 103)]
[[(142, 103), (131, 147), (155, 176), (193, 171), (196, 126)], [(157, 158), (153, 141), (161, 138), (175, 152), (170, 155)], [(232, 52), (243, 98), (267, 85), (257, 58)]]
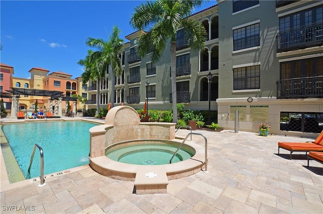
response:
[[(30, 78), (31, 68), (81, 76), (88, 37), (107, 40), (114, 25), (120, 38), (135, 30), (129, 24), (144, 1), (0, 1), (1, 63), (14, 67), (14, 77)], [(211, 0), (195, 12), (216, 5)]]

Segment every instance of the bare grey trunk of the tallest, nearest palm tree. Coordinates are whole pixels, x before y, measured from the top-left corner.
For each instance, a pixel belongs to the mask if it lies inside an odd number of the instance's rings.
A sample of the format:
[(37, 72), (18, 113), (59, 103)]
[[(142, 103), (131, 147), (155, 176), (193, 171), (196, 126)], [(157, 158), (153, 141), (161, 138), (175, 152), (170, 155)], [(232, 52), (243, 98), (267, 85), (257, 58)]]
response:
[(177, 123), (177, 93), (176, 93), (176, 41), (171, 41), (171, 82), (173, 98), (173, 123)]

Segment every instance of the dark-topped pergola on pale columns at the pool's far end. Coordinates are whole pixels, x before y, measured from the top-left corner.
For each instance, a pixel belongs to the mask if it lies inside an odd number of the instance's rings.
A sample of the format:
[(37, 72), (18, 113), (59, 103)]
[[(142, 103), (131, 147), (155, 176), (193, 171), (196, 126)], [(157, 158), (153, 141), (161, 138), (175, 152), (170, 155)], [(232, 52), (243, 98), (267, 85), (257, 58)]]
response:
[[(31, 88), (14, 88), (7, 90), (12, 95), (11, 104), (11, 117), (16, 117), (18, 113), (18, 98), (20, 95), (30, 95), (30, 96), (48, 96), (51, 100), (55, 100), (55, 113), (62, 116), (62, 100), (64, 101), (77, 101), (77, 97), (64, 96), (62, 91), (49, 91), (41, 89), (31, 89)], [(50, 103), (51, 105), (51, 103)], [(75, 108), (75, 111), (74, 111)], [(49, 111), (52, 111), (52, 106), (49, 106)], [(73, 112), (76, 112), (76, 105), (73, 105)]]

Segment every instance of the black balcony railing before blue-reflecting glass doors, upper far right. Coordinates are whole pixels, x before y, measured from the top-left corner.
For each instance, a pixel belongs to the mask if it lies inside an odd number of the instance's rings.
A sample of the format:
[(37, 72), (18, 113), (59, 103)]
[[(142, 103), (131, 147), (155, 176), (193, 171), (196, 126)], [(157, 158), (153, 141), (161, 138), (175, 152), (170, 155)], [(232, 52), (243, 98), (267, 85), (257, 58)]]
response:
[(281, 32), (276, 40), (277, 52), (323, 45), (323, 22)]

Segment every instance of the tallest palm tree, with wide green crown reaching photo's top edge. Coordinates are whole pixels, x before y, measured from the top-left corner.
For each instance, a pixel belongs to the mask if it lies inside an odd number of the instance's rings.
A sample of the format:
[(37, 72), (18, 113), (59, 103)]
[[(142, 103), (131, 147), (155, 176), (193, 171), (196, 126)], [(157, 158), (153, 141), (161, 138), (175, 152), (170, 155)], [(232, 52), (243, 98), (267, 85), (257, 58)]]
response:
[(203, 50), (206, 41), (206, 31), (201, 23), (192, 21), (189, 16), (195, 6), (203, 1), (170, 1), (157, 0), (141, 4), (135, 8), (130, 24), (144, 33), (139, 37), (137, 52), (143, 57), (151, 52), (151, 61), (156, 62), (171, 40), (171, 82), (173, 99), (173, 122), (177, 123), (177, 93), (176, 93), (176, 33), (184, 29), (188, 45), (193, 50)]

